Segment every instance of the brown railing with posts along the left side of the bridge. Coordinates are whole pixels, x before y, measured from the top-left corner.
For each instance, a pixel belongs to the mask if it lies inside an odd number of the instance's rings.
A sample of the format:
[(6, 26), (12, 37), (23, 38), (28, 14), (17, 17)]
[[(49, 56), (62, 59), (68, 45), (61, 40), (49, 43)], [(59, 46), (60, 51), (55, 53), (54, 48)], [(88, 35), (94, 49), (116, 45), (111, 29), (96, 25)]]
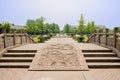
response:
[(6, 29), (3, 29), (3, 33), (0, 34), (0, 52), (8, 47), (15, 47), (27, 43), (34, 43), (33, 39), (23, 30), (21, 33), (16, 33), (15, 30), (12, 33), (6, 33)]

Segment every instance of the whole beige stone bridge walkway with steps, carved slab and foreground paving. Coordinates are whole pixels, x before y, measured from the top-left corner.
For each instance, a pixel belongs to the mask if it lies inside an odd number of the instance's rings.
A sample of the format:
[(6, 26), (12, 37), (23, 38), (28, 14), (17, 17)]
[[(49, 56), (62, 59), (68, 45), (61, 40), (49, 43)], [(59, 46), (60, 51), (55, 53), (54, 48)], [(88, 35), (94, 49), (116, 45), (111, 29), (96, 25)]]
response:
[(7, 49), (0, 58), (0, 80), (120, 80), (119, 75), (120, 59), (111, 49), (72, 38)]

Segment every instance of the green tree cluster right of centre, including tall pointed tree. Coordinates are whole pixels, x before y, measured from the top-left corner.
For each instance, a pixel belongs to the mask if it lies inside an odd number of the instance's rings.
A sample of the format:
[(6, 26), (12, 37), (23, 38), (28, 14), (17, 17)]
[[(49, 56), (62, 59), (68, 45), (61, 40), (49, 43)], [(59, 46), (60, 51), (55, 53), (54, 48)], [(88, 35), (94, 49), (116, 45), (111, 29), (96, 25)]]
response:
[(95, 22), (91, 21), (85, 24), (85, 19), (83, 17), (83, 14), (81, 14), (78, 26), (74, 27), (70, 24), (65, 24), (63, 28), (63, 33), (91, 34), (95, 30), (95, 28)]

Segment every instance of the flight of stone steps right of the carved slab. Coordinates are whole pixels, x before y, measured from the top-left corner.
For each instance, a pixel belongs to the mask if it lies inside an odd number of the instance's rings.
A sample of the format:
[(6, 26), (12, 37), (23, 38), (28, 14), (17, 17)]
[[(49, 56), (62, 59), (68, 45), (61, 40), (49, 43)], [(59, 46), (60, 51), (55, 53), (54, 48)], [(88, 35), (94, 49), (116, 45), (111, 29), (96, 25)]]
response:
[(82, 50), (89, 68), (120, 68), (120, 58), (112, 50)]

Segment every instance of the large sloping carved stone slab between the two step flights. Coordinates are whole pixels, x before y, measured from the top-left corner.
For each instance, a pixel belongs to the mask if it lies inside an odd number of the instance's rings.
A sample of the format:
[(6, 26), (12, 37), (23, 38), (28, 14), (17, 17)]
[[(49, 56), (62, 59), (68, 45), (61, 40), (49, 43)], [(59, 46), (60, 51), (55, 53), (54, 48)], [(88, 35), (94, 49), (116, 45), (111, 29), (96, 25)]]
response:
[(89, 70), (81, 50), (73, 44), (46, 44), (41, 48), (29, 70), (77, 71)]

